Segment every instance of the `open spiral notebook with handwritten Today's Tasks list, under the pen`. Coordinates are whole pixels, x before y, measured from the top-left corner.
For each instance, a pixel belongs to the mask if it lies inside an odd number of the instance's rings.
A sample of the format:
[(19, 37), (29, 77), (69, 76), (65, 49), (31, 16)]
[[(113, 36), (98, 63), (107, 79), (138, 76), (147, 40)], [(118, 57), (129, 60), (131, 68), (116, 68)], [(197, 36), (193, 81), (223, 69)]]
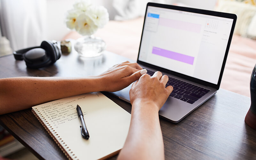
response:
[[(89, 140), (81, 136), (76, 105), (82, 108)], [(131, 115), (100, 92), (54, 100), (32, 112), (68, 159), (106, 159), (118, 154), (126, 140)]]

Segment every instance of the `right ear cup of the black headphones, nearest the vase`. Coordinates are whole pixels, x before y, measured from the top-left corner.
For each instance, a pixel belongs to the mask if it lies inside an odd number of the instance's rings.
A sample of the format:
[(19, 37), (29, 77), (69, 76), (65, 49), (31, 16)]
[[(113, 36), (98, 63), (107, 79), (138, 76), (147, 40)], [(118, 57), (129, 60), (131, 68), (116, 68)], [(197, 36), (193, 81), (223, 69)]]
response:
[(51, 41), (43, 41), (40, 47), (43, 48), (46, 51), (46, 54), (51, 58), (50, 64), (53, 64), (58, 59), (60, 59), (60, 51), (59, 49), (55, 48), (54, 44)]

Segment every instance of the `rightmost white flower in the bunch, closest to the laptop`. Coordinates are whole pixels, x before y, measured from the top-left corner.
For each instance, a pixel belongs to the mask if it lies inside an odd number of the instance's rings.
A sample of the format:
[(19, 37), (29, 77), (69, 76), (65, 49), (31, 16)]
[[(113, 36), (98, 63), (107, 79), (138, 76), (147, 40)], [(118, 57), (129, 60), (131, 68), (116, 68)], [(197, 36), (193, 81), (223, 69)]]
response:
[(99, 28), (103, 28), (109, 21), (108, 10), (103, 6), (91, 6), (87, 12)]

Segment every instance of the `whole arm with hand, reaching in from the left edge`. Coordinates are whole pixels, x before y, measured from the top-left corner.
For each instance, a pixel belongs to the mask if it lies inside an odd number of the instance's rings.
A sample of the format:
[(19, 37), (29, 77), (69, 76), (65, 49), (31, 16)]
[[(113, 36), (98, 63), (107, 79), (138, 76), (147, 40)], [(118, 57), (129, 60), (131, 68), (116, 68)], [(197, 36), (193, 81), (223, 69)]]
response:
[(0, 79), (0, 115), (78, 94), (118, 91), (138, 80), (141, 69), (137, 63), (126, 61), (99, 76), (3, 78)]

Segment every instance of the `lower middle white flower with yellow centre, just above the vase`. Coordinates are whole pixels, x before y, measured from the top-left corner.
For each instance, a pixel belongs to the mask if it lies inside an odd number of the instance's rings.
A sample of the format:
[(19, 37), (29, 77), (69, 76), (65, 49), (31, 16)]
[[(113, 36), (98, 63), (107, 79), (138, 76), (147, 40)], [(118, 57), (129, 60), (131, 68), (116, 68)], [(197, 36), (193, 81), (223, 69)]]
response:
[(83, 36), (92, 35), (98, 29), (98, 27), (94, 24), (93, 20), (85, 13), (81, 13), (77, 17), (77, 26), (79, 30), (76, 29), (76, 31)]

